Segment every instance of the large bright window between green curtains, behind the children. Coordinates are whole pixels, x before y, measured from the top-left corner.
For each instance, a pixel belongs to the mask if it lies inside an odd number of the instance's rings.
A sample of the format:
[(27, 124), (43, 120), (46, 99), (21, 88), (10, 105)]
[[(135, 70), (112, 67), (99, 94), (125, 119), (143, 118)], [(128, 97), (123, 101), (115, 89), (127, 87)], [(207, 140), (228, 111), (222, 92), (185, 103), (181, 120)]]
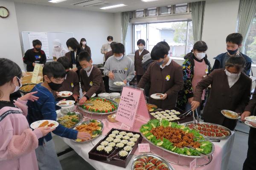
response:
[[(137, 31), (141, 31), (140, 37)], [(192, 21), (134, 25), (134, 52), (138, 49), (137, 40), (140, 38), (145, 40), (148, 51), (157, 42), (166, 41), (170, 46), (169, 56), (184, 57), (193, 47)]]

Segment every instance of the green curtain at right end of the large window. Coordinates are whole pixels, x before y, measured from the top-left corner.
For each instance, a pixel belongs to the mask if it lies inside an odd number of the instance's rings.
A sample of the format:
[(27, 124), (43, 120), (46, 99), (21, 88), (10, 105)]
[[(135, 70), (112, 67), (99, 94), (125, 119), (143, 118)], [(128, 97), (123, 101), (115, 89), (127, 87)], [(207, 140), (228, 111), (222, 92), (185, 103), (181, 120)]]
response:
[(202, 40), (205, 1), (190, 3), (194, 42)]

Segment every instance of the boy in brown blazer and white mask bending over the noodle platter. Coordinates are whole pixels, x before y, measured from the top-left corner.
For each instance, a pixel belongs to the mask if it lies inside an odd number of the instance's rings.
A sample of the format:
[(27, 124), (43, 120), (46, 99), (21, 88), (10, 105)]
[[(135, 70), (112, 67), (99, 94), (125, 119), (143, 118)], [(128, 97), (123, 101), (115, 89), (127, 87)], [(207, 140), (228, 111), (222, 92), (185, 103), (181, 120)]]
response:
[(105, 87), (102, 79), (102, 74), (99, 68), (93, 67), (93, 60), (87, 51), (79, 54), (78, 60), (82, 67), (80, 71), (81, 89), (83, 97), (80, 99), (79, 104), (84, 104), (85, 101), (90, 99), (93, 94), (100, 94), (105, 92)]

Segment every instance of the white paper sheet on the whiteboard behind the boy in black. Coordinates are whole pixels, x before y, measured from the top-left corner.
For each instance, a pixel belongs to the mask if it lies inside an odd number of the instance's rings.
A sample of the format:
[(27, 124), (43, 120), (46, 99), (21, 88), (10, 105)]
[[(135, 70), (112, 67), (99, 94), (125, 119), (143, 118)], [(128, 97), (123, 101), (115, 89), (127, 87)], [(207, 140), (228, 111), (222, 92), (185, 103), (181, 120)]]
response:
[(42, 42), (42, 50), (45, 52), (46, 58), (49, 59), (49, 45), (46, 32), (29, 32), (29, 45), (33, 47), (33, 40), (40, 40)]

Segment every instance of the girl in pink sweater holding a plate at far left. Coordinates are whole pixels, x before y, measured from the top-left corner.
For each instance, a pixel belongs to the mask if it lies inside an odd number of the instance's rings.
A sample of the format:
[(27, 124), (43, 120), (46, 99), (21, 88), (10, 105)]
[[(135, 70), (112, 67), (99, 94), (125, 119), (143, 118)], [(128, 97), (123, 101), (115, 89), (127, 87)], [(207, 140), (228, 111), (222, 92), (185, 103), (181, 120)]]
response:
[(38, 170), (35, 148), (38, 139), (51, 132), (50, 127), (32, 131), (26, 120), (27, 100), (37, 100), (33, 93), (16, 101), (10, 101), (10, 94), (21, 87), (20, 67), (9, 59), (0, 58), (0, 169)]

